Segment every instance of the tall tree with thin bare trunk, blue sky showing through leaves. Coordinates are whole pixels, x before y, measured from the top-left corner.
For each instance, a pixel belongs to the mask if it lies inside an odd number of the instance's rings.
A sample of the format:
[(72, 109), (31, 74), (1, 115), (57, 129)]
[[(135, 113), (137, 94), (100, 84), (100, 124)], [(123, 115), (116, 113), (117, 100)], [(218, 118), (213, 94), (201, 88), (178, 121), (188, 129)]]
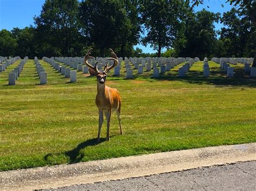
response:
[(183, 6), (183, 1), (142, 0), (140, 3), (140, 15), (147, 32), (143, 44), (151, 44), (158, 51), (158, 57), (161, 48), (170, 48), (177, 36), (183, 20)]

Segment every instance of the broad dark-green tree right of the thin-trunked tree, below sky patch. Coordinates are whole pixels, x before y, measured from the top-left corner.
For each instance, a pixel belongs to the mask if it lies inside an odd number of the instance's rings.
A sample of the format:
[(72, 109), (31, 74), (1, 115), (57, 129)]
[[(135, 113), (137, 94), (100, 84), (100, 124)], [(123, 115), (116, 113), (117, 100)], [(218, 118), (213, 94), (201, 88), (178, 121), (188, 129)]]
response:
[(190, 13), (185, 29), (179, 31), (174, 43), (177, 56), (198, 56), (200, 59), (214, 55), (217, 35), (214, 22), (218, 22), (219, 13), (206, 11)]

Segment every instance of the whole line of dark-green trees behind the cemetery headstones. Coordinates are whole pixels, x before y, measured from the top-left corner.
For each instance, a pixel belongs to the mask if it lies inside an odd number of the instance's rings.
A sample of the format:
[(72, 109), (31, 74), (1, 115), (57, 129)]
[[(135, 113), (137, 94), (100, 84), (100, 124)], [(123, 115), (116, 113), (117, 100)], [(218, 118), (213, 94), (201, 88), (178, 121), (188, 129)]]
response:
[[(253, 57), (255, 26), (244, 10), (193, 11), (198, 1), (46, 0), (35, 26), (0, 31), (0, 55)], [(199, 1), (200, 2), (200, 1)], [(225, 25), (220, 31), (215, 22)], [(150, 44), (155, 54), (133, 46)], [(167, 51), (161, 53), (162, 48)]]

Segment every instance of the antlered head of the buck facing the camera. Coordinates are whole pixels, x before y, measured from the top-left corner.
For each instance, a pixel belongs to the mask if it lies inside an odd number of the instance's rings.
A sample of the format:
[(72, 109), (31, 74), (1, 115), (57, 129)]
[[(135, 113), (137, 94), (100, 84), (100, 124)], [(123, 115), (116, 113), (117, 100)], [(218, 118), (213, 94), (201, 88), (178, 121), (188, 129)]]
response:
[(100, 70), (97, 68), (98, 61), (95, 63), (94, 67), (92, 65), (90, 65), (90, 63), (88, 62), (89, 58), (94, 58), (94, 57), (90, 56), (91, 51), (92, 51), (92, 48), (90, 48), (89, 51), (84, 56), (84, 63), (85, 63), (86, 66), (88, 66), (89, 68), (91, 68), (95, 72), (95, 76), (97, 77), (97, 83), (103, 85), (106, 82), (106, 76), (107, 76), (107, 73), (109, 72), (109, 70), (111, 70), (112, 68), (114, 68), (114, 67), (116, 67), (118, 65), (117, 55), (110, 48), (110, 51), (111, 51), (111, 54), (112, 54), (112, 58), (107, 58), (107, 60), (113, 60), (114, 63), (110, 67), (107, 66), (107, 64), (106, 64), (105, 67), (104, 67), (104, 71), (100, 72)]

